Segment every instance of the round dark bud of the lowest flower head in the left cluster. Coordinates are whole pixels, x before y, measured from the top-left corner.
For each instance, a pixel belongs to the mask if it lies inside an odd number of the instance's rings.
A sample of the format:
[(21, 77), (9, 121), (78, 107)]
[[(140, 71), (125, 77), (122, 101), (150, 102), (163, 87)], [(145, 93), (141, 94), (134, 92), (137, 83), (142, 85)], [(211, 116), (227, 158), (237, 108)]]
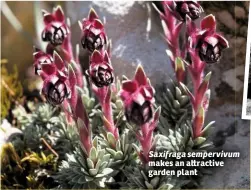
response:
[(53, 106), (60, 105), (65, 98), (70, 96), (70, 90), (66, 83), (57, 77), (52, 77), (44, 82), (42, 93), (47, 102)]

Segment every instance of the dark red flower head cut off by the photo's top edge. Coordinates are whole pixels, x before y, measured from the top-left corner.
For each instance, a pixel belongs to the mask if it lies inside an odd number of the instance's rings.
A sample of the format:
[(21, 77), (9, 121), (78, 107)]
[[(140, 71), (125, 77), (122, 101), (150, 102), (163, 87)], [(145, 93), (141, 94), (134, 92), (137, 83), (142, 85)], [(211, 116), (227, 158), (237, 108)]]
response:
[(185, 21), (186, 16), (195, 20), (203, 12), (202, 7), (197, 1), (165, 1), (164, 6), (167, 6), (174, 17), (180, 21)]

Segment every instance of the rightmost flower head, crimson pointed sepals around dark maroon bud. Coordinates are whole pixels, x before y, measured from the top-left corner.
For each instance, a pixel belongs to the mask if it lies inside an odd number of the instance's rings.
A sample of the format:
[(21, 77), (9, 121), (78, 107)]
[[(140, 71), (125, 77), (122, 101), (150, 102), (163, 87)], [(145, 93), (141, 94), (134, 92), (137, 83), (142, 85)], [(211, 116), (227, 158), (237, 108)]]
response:
[(196, 48), (200, 59), (206, 63), (216, 63), (220, 60), (222, 50), (228, 48), (228, 41), (216, 33), (216, 21), (213, 15), (201, 21), (201, 30), (190, 38), (191, 46)]

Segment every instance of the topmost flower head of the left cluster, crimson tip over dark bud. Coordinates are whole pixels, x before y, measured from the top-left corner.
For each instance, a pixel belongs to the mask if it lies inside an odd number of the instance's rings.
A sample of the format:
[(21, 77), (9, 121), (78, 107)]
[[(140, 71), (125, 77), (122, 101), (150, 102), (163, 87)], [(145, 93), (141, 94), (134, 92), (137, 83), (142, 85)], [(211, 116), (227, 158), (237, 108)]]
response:
[(45, 28), (42, 32), (42, 39), (55, 46), (61, 45), (69, 34), (63, 10), (58, 6), (53, 13), (44, 11), (43, 14)]

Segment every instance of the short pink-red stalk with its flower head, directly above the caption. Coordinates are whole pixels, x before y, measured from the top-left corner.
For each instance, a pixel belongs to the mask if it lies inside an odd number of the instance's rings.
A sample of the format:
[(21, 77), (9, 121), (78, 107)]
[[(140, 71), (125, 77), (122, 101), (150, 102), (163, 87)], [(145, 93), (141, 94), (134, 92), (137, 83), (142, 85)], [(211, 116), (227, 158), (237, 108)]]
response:
[(154, 148), (153, 130), (157, 126), (160, 109), (153, 114), (154, 89), (141, 65), (136, 69), (133, 80), (122, 81), (120, 97), (124, 103), (127, 121), (140, 127), (136, 137), (141, 144), (138, 152), (141, 161), (149, 161), (149, 151)]

